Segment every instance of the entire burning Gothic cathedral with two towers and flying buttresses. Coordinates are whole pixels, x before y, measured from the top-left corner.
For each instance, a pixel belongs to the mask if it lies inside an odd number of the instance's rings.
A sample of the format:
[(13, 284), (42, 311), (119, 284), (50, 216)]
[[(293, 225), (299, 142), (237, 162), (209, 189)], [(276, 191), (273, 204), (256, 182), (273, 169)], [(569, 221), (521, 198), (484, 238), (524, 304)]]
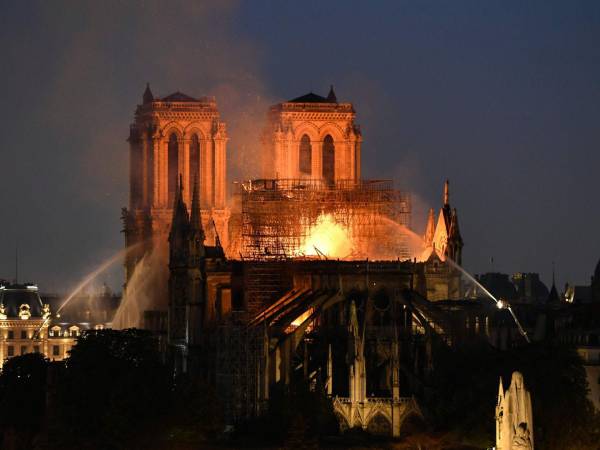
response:
[(409, 194), (361, 177), (355, 110), (333, 88), (269, 109), (263, 178), (231, 196), (213, 97), (146, 87), (128, 141), (125, 301), (138, 284), (149, 300), (124, 323), (212, 383), (232, 424), (303, 381), (331, 396), (342, 428), (399, 435), (420, 414), (432, 340), (461, 338), (436, 306), (463, 297), (448, 182), (416, 235)]

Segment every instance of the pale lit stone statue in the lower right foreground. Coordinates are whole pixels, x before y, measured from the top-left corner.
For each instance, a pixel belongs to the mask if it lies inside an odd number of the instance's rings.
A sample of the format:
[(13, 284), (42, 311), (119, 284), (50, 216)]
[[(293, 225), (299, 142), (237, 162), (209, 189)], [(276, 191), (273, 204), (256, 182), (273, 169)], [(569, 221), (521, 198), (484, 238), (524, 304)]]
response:
[(500, 378), (496, 404), (496, 449), (533, 450), (531, 395), (519, 372), (513, 372), (507, 391), (504, 391)]

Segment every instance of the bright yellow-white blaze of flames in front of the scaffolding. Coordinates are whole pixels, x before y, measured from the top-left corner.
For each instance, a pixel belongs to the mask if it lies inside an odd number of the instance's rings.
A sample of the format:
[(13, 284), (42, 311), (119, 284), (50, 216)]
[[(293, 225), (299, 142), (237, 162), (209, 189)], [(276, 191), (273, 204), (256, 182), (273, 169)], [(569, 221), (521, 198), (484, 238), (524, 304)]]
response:
[(331, 214), (324, 214), (310, 228), (301, 248), (301, 252), (309, 256), (318, 256), (321, 252), (331, 258), (346, 258), (352, 253), (352, 241), (343, 225), (336, 222)]

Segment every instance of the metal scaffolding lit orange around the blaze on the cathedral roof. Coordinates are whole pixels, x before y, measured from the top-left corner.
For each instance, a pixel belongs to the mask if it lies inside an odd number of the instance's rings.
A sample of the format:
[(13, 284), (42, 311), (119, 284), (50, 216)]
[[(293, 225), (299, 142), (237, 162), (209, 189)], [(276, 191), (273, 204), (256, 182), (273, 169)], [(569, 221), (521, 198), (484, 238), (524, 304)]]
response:
[(409, 259), (410, 196), (389, 180), (264, 179), (240, 186), (241, 256), (269, 260), (302, 256), (307, 233), (330, 215), (355, 244), (350, 259)]

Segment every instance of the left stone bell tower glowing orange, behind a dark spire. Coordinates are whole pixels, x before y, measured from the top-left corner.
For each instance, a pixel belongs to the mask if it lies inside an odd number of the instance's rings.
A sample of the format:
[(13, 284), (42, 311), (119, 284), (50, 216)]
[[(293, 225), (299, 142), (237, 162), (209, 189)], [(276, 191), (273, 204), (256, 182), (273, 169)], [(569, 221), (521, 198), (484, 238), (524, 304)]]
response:
[(127, 246), (139, 245), (126, 257), (127, 282), (143, 255), (156, 245), (166, 246), (180, 177), (187, 204), (198, 180), (207, 241), (214, 243), (218, 235), (226, 247), (227, 130), (215, 98), (181, 92), (159, 98), (147, 85), (128, 142), (130, 191), (129, 208), (123, 209), (124, 232)]

